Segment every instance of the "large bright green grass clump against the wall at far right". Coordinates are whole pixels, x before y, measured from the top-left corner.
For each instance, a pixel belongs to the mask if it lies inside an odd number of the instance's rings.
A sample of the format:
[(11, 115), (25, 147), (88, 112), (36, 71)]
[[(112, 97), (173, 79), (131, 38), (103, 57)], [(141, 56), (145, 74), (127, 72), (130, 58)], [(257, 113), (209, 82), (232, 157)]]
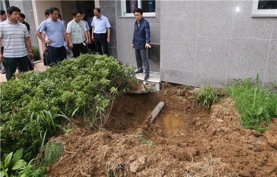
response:
[(270, 124), (270, 118), (277, 116), (277, 94), (262, 88), (257, 80), (246, 79), (225, 90), (235, 100), (241, 125), (245, 129), (265, 132), (266, 128), (260, 124)]

